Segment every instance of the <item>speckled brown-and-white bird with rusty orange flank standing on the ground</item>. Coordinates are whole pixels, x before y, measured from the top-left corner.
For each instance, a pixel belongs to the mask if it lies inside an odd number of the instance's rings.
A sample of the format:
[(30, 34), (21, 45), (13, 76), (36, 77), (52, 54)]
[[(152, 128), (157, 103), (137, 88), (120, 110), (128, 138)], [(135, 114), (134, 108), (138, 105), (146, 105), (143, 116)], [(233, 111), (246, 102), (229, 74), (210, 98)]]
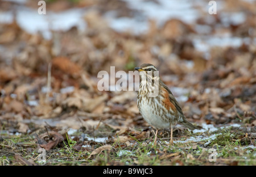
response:
[(152, 64), (142, 64), (134, 68), (139, 71), (137, 106), (144, 120), (156, 129), (154, 145), (157, 144), (159, 129), (171, 129), (170, 145), (173, 144), (172, 132), (177, 123), (189, 129), (199, 129), (188, 122), (171, 90), (159, 77), (159, 71)]

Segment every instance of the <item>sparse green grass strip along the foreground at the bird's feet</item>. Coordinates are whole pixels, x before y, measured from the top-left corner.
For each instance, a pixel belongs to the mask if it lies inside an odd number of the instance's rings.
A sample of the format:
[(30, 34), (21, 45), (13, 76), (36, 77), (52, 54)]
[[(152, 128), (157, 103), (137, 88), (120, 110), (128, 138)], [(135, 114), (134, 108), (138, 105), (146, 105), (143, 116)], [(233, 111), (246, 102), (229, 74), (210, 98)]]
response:
[[(184, 141), (191, 136), (209, 137), (213, 134), (215, 138), (210, 143), (207, 138), (199, 142)], [(246, 138), (244, 132), (219, 129), (214, 133), (184, 132), (183, 135), (185, 137), (178, 138), (180, 141), (171, 146), (159, 137), (158, 146), (153, 148), (150, 139), (137, 140), (130, 136), (133, 140), (129, 145), (117, 140), (108, 144), (113, 147), (111, 150), (103, 150), (92, 157), (92, 151), (104, 143), (94, 143), (90, 148), (77, 151), (75, 146), (81, 142), (67, 136), (61, 145), (46, 151), (45, 161), (40, 161), (42, 152), (38, 151), (35, 136), (5, 134), (0, 141), (0, 165), (28, 165), (15, 154), (34, 165), (256, 165), (255, 146), (250, 148), (249, 138), (243, 140)]]

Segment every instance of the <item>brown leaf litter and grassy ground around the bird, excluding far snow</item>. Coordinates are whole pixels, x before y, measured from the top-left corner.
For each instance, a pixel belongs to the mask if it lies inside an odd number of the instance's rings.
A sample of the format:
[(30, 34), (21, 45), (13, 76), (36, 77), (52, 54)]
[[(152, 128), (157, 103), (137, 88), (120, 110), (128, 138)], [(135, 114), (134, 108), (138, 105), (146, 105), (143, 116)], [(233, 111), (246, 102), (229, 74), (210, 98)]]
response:
[[(223, 12), (245, 11), (241, 24), (225, 26), (221, 13), (208, 22), (201, 12), (196, 24), (170, 19), (159, 27), (151, 20), (146, 33), (134, 35), (114, 31), (102, 17), (109, 10), (133, 15), (123, 1), (63, 2), (49, 2), (48, 10), (94, 6), (84, 32), (53, 31), (46, 40), (15, 21), (0, 24), (0, 165), (256, 165), (255, 3), (225, 1)], [(209, 36), (249, 42), (211, 47), (206, 60), (192, 41), (201, 36), (198, 24)], [(143, 63), (159, 68), (177, 98), (188, 98), (181, 107), (201, 131), (177, 126), (168, 146), (170, 133), (162, 130), (151, 148), (154, 133), (139, 114), (137, 92), (98, 91), (98, 71), (128, 72)], [(210, 149), (216, 162), (209, 162)]]

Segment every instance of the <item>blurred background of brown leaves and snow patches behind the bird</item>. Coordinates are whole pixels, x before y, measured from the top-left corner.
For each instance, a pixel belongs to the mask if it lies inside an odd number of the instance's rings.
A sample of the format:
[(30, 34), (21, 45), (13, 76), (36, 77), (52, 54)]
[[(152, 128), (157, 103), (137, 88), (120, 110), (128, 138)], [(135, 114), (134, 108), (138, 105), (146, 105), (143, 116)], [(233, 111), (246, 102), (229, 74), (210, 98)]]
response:
[(143, 63), (159, 69), (189, 120), (255, 125), (256, 1), (217, 0), (217, 14), (204, 0), (45, 2), (39, 14), (38, 1), (0, 1), (5, 129), (86, 127), (74, 117), (146, 125), (137, 92), (97, 90), (99, 71)]

